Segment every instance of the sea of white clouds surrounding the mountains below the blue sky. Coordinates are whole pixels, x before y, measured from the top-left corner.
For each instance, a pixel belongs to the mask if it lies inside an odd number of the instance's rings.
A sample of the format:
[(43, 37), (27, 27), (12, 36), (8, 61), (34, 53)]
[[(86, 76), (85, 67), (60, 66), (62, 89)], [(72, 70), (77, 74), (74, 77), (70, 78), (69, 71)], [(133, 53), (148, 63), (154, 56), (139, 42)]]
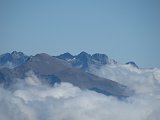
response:
[(0, 87), (0, 120), (159, 120), (160, 70), (127, 65), (92, 68), (92, 73), (131, 87), (120, 100), (70, 83), (53, 87), (32, 72), (10, 89)]

